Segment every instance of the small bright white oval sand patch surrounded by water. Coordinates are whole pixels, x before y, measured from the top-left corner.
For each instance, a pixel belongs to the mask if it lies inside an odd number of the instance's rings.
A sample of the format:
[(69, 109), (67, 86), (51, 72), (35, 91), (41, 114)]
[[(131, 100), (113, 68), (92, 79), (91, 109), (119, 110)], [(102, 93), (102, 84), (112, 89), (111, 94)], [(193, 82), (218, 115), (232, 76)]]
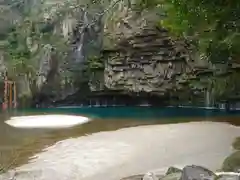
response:
[(11, 117), (5, 123), (16, 128), (67, 128), (89, 121), (89, 118), (83, 116), (36, 115)]

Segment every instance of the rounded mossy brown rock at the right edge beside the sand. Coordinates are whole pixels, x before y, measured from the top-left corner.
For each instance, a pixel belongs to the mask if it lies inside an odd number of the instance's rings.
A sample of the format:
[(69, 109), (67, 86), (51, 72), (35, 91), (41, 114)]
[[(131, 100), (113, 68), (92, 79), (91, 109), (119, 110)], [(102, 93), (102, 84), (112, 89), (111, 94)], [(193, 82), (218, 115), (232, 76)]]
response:
[(240, 151), (237, 151), (227, 157), (223, 162), (223, 171), (236, 171), (240, 169)]

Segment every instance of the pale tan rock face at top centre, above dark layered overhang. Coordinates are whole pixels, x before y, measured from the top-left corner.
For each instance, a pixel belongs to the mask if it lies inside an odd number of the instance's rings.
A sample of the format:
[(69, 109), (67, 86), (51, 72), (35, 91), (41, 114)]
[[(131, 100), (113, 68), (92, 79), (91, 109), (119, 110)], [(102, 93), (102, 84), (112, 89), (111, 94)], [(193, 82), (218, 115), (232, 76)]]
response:
[(157, 7), (141, 9), (138, 3), (138, 0), (118, 1), (105, 15), (104, 48), (112, 48), (122, 39), (140, 33), (145, 26), (152, 27), (161, 18)]

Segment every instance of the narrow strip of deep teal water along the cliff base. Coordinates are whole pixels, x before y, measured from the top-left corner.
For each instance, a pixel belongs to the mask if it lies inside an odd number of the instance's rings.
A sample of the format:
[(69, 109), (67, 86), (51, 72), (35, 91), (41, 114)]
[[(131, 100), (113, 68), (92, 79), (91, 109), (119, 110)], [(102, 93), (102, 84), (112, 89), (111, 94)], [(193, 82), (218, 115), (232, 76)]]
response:
[(25, 109), (19, 111), (24, 113), (67, 113), (81, 114), (95, 118), (185, 118), (185, 117), (216, 117), (216, 116), (238, 116), (240, 111), (224, 111), (219, 109), (203, 108), (181, 108), (181, 107), (62, 107), (47, 109)]

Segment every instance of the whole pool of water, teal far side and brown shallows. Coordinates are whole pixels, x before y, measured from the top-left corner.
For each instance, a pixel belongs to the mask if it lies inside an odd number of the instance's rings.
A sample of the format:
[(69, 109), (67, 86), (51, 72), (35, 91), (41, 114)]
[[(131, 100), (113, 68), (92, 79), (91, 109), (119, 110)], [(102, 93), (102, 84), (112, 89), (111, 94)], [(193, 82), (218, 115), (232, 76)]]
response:
[[(93, 120), (72, 128), (54, 130), (16, 129), (4, 123), (10, 116), (42, 114), (84, 115)], [(10, 168), (21, 166), (26, 164), (29, 158), (33, 157), (36, 153), (41, 153), (43, 150), (45, 151), (46, 147), (51, 147), (57, 142), (69, 138), (88, 137), (98, 132), (109, 132), (107, 136), (109, 137), (111, 133), (113, 134), (116, 130), (128, 127), (199, 121), (227, 122), (238, 126), (240, 125), (239, 117), (240, 112), (238, 111), (226, 112), (200, 108), (171, 107), (62, 107), (18, 110), (1, 114), (0, 117), (0, 165)], [(206, 137), (211, 137), (211, 131), (209, 132), (210, 134), (206, 135)], [(226, 133), (231, 136), (231, 131), (226, 130)], [(233, 136), (235, 135), (236, 134)], [(142, 141), (144, 141), (144, 139)], [(231, 144), (231, 142), (229, 143)], [(155, 150), (153, 152), (155, 152)]]

